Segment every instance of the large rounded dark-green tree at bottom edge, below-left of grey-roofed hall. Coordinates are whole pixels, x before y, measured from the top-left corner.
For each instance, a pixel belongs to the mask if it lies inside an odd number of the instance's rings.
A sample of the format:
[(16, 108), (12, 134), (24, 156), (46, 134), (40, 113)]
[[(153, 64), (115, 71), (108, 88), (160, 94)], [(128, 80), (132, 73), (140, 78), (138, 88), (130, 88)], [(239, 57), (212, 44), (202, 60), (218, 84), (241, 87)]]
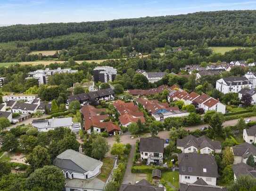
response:
[(44, 166), (36, 169), (26, 180), (29, 190), (40, 188), (42, 191), (62, 191), (65, 186), (65, 177), (55, 166)]

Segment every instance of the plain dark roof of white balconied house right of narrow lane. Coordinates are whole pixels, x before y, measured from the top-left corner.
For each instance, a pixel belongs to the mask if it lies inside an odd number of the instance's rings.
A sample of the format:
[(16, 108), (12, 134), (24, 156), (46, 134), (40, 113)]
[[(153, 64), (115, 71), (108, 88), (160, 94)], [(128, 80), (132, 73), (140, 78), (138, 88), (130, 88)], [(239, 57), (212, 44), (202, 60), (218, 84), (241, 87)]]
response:
[(140, 151), (164, 153), (165, 139), (162, 138), (140, 138)]

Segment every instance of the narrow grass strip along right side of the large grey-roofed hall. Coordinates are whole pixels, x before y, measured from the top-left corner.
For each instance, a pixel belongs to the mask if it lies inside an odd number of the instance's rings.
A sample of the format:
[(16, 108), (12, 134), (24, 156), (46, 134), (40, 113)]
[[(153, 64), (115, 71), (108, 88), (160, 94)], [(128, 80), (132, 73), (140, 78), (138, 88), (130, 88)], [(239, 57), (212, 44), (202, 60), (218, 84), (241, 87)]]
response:
[(110, 175), (113, 169), (115, 160), (113, 158), (107, 157), (107, 158), (104, 158), (102, 162), (103, 162), (103, 166), (101, 167), (100, 174), (97, 176), (97, 178), (99, 178), (103, 182), (106, 182), (108, 176)]

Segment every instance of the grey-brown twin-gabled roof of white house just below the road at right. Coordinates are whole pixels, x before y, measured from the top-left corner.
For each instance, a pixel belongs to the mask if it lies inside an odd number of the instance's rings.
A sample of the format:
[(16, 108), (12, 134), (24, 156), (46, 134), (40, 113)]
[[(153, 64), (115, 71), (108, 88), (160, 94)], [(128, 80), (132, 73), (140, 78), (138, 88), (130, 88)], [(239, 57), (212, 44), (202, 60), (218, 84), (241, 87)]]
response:
[(206, 136), (201, 136), (199, 138), (194, 137), (193, 135), (188, 135), (183, 139), (177, 139), (177, 146), (188, 148), (190, 146), (195, 146), (197, 149), (202, 149), (209, 147), (211, 149), (221, 149), (220, 141), (213, 141)]

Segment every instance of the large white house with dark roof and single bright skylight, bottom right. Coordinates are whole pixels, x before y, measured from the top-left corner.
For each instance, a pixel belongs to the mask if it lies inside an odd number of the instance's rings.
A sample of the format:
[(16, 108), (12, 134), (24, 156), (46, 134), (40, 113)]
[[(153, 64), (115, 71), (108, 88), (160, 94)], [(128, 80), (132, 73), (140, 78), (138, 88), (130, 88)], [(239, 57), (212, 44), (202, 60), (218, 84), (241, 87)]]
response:
[(180, 183), (194, 183), (202, 178), (216, 186), (218, 166), (212, 154), (181, 153), (178, 160)]

